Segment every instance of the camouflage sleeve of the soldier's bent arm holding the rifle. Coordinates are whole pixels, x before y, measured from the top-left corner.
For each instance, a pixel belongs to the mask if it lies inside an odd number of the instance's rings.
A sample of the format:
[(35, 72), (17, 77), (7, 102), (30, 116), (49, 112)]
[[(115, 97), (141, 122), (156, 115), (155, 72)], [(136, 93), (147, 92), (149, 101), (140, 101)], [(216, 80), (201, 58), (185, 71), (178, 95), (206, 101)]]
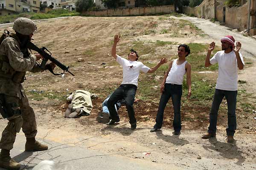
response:
[(6, 40), (4, 43), (6, 53), (10, 62), (10, 65), (15, 71), (31, 71), (35, 65), (36, 57), (31, 55), (27, 58), (23, 58), (23, 53), (20, 51), (17, 42), (12, 39)]

